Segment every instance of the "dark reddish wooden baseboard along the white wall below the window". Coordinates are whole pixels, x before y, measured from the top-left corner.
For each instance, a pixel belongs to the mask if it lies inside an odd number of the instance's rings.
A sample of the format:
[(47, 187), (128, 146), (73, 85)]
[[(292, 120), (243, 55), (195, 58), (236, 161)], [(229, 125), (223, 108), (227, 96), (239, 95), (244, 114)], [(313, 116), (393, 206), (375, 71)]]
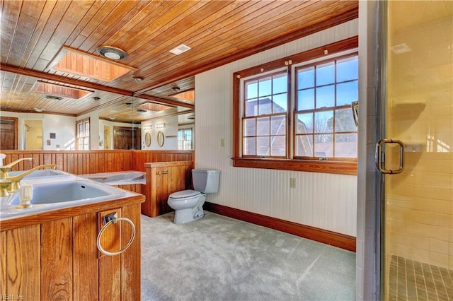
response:
[(309, 240), (315, 240), (316, 242), (330, 244), (334, 247), (355, 252), (355, 237), (349, 235), (293, 223), (287, 220), (280, 220), (279, 218), (272, 218), (270, 216), (263, 216), (258, 213), (226, 207), (217, 203), (205, 202), (203, 207), (205, 210), (220, 214), (221, 216), (236, 218), (237, 220), (243, 220), (244, 222), (261, 225), (267, 228), (279, 230), (292, 235), (297, 235), (299, 237), (304, 237)]

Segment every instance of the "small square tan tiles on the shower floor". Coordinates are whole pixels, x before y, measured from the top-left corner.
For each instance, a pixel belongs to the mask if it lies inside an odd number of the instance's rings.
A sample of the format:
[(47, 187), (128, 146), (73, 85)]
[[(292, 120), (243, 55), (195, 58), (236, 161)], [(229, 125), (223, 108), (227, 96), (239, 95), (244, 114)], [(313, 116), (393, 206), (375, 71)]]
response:
[(393, 255), (389, 300), (453, 301), (453, 271)]

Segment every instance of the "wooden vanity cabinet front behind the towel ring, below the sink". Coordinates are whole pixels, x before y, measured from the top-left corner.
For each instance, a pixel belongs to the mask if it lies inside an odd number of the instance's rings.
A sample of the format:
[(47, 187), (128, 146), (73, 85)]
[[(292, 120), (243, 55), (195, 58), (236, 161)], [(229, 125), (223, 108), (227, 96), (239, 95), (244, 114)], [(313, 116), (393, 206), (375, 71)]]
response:
[[(0, 292), (13, 300), (140, 300), (140, 203), (127, 197), (0, 222)], [(132, 220), (134, 241), (106, 256), (96, 240), (102, 219), (116, 212)], [(102, 235), (109, 252), (129, 242), (132, 228), (120, 221)]]

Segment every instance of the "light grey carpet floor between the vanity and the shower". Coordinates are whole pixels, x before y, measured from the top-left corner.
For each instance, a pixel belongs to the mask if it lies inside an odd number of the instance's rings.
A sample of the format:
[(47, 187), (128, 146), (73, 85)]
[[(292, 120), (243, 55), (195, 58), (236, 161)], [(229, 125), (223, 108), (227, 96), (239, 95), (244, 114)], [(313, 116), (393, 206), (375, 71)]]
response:
[(205, 211), (142, 216), (142, 300), (355, 300), (355, 253)]

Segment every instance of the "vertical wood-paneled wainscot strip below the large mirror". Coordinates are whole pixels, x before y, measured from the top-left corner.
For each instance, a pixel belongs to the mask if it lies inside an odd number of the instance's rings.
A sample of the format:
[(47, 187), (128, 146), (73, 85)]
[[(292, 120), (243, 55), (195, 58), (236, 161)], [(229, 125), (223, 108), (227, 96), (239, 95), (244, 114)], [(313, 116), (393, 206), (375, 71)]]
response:
[(33, 158), (13, 166), (29, 170), (42, 164), (56, 164), (57, 170), (74, 175), (123, 170), (145, 171), (144, 163), (193, 161), (194, 151), (0, 151), (4, 165), (20, 158)]

